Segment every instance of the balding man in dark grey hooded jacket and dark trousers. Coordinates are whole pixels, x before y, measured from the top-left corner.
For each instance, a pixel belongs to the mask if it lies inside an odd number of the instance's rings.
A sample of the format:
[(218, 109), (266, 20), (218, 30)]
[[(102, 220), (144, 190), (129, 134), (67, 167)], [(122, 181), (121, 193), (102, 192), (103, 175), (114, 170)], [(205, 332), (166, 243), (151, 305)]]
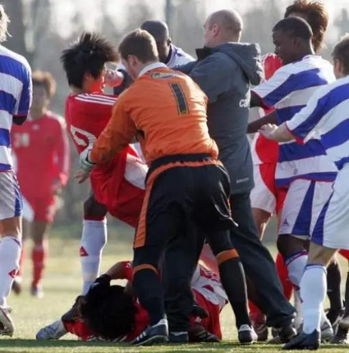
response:
[[(274, 260), (261, 244), (250, 207), (253, 163), (246, 136), (250, 84), (263, 77), (257, 45), (240, 43), (242, 19), (235, 11), (220, 10), (205, 23), (205, 47), (198, 60), (174, 69), (188, 74), (209, 98), (209, 133), (220, 149), (220, 160), (231, 178), (231, 212), (238, 226), (231, 230), (246, 276), (253, 283), (258, 305), (267, 314), (268, 326), (279, 328), (287, 341), (294, 308), (287, 302)], [(233, 276), (233, 274), (232, 274)]]

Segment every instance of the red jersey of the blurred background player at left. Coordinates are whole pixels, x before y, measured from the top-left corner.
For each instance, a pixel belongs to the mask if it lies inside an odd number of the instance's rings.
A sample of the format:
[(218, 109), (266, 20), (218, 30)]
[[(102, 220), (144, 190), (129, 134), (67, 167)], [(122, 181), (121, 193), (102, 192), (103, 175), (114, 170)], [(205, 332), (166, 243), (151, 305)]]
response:
[(17, 178), (25, 197), (48, 197), (53, 182), (68, 181), (70, 151), (64, 119), (53, 112), (12, 125)]

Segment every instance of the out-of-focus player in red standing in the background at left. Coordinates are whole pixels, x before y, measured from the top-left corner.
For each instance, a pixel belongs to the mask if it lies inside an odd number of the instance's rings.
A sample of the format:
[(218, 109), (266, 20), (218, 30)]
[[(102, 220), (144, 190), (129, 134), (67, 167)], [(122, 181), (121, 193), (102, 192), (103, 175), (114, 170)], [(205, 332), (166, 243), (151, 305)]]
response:
[[(31, 235), (34, 241), (31, 294), (42, 297), (47, 238), (55, 216), (56, 197), (68, 181), (70, 151), (64, 119), (49, 110), (55, 94), (55, 80), (51, 73), (35, 71), (32, 82), (33, 103), (29, 119), (23, 125), (14, 125), (11, 135), (18, 182), (34, 213), (31, 223), (23, 219), (23, 240)], [(21, 265), (24, 258), (23, 247)], [(21, 277), (17, 277), (14, 282), (16, 293), (21, 292), (20, 283)]]

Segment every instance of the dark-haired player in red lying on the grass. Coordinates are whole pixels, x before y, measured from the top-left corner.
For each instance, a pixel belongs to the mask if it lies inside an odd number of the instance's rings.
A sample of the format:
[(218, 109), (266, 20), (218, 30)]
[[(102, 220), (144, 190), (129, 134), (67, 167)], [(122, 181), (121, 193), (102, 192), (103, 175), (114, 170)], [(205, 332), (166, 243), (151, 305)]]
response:
[[(111, 286), (111, 280), (127, 280), (127, 286)], [(133, 341), (149, 325), (148, 314), (133, 297), (133, 269), (130, 261), (114, 265), (92, 284), (85, 296), (77, 297), (75, 310), (38, 331), (36, 339), (60, 339), (67, 332), (83, 341)], [(217, 273), (198, 265), (192, 278), (192, 292), (206, 309), (206, 319), (190, 317), (190, 342), (219, 342), (220, 311), (227, 295)]]

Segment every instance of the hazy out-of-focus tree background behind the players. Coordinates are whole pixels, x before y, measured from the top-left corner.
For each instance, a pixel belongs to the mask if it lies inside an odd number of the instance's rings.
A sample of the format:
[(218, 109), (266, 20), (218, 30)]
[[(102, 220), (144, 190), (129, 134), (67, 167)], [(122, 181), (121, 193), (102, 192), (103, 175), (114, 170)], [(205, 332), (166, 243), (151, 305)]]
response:
[[(83, 0), (70, 0), (70, 3), (63, 0), (2, 1), (11, 20), (9, 29), (11, 37), (5, 42), (5, 46), (25, 56), (33, 70), (40, 69), (53, 73), (57, 81), (57, 94), (53, 98), (51, 109), (55, 112), (64, 114), (64, 100), (68, 94), (68, 86), (59, 61), (60, 53), (69, 42), (79, 36), (83, 29), (86, 27), (91, 29), (88, 23), (91, 11), (98, 14), (92, 26), (93, 29), (101, 31), (116, 43), (124, 34), (138, 27), (146, 19), (166, 20), (174, 44), (194, 55), (194, 49), (203, 45), (203, 23), (208, 14), (208, 8), (211, 10), (211, 5), (214, 3), (211, 0), (120, 1), (124, 6), (122, 13), (119, 13), (116, 18), (114, 13), (117, 11), (111, 12), (110, 9), (111, 6), (117, 6), (119, 1), (94, 0), (92, 8), (91, 6), (84, 8)], [(77, 3), (80, 5), (75, 6)], [(247, 3), (238, 0), (224, 1), (225, 7), (236, 8), (242, 14), (243, 40), (258, 42), (262, 53), (274, 50), (271, 29), (283, 17), (283, 11), (290, 3), (292, 0), (250, 0), (247, 6)], [(334, 8), (337, 0), (326, 0), (324, 3)], [(336, 6), (334, 10), (326, 48), (321, 53), (326, 58), (331, 57), (333, 42), (339, 39), (339, 36), (349, 32), (347, 10), (349, 6), (346, 6), (349, 5), (349, 0), (341, 0), (341, 4), (343, 8)], [(57, 6), (60, 6), (60, 15), (57, 14)], [(66, 7), (66, 12), (63, 7)], [(79, 223), (82, 202), (89, 192), (87, 184), (79, 186), (73, 179), (78, 164), (77, 154), (73, 148), (72, 159), (72, 178), (64, 191), (62, 208), (57, 214), (56, 225)]]

